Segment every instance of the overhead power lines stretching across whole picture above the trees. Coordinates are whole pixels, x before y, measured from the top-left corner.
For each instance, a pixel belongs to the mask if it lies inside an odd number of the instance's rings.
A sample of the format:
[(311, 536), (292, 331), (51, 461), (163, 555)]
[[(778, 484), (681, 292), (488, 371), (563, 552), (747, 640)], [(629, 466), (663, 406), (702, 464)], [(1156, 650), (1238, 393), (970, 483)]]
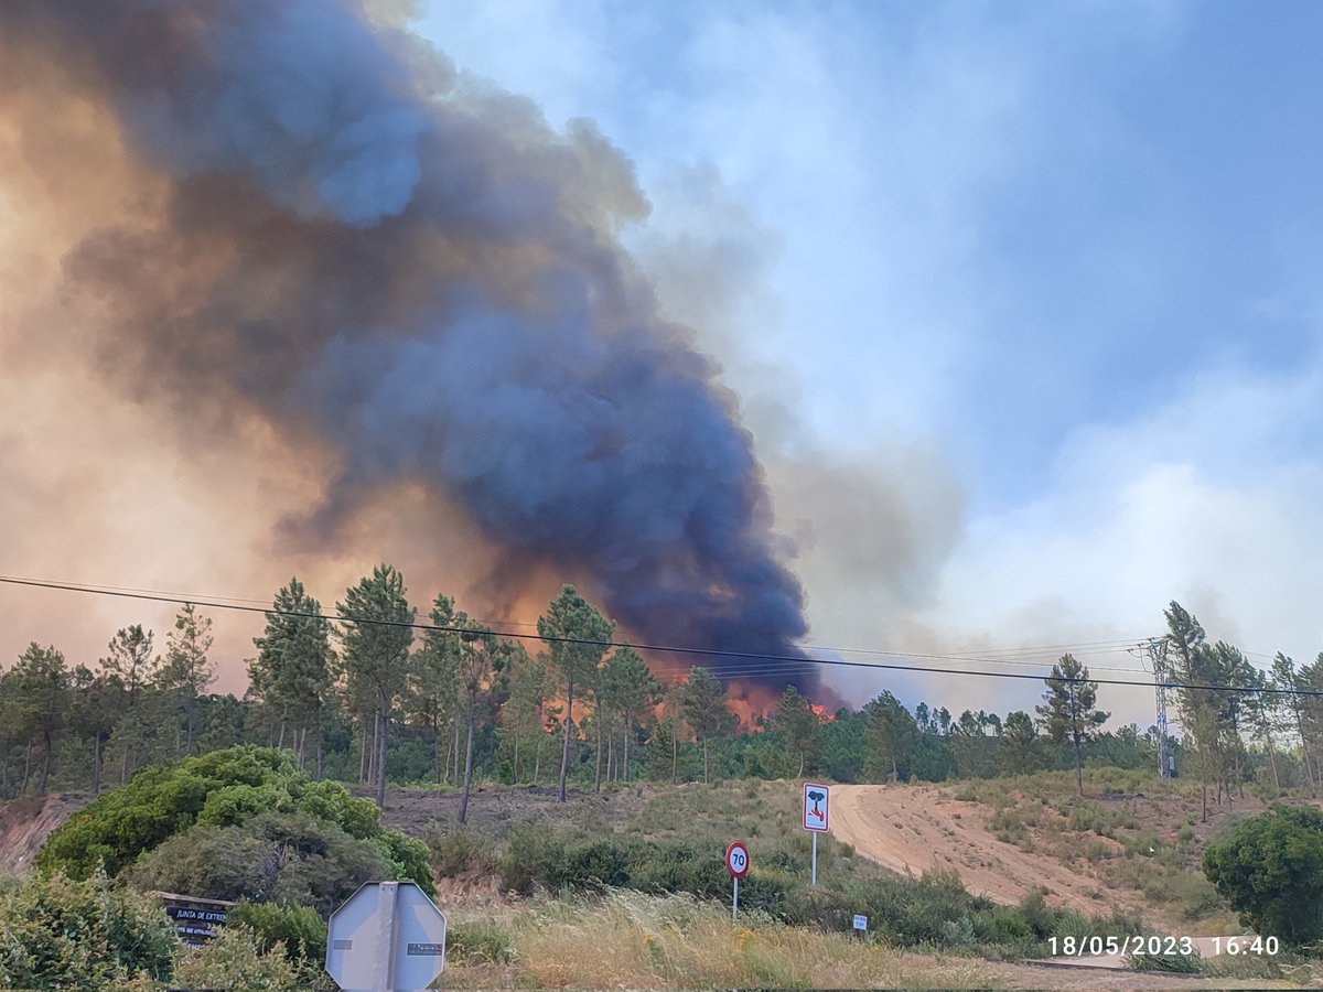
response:
[[(201, 598), (201, 597), (188, 597), (175, 593), (160, 593), (160, 591), (138, 591), (132, 589), (122, 589), (115, 586), (90, 586), (79, 585), (71, 582), (49, 582), (45, 579), (22, 578), (17, 575), (0, 575), (0, 583), (12, 586), (28, 586), (33, 589), (49, 589), (65, 593), (83, 593), (87, 595), (105, 595), (116, 597), (120, 599), (140, 599), (148, 602), (159, 603), (193, 603), (194, 606), (205, 606), (213, 610), (234, 610), (239, 612), (259, 612), (271, 614), (278, 616), (303, 616), (310, 619), (335, 619), (341, 623), (357, 623), (357, 624), (374, 624), (377, 627), (407, 627), (410, 630), (421, 631), (445, 631), (450, 634), (487, 634), (488, 631), (478, 630), (474, 627), (458, 627), (458, 626), (442, 626), (430, 623), (417, 623), (407, 620), (378, 620), (368, 618), (347, 616), (336, 611), (332, 616), (325, 616), (323, 614), (308, 614), (299, 612), (296, 610), (277, 610), (274, 607), (263, 606), (247, 606), (245, 603), (251, 603), (255, 600), (243, 599), (230, 599), (226, 602), (222, 598)], [(982, 679), (1015, 679), (1015, 680), (1028, 680), (1028, 681), (1043, 681), (1044, 676), (1032, 672), (990, 672), (980, 669), (968, 668), (931, 668), (927, 665), (913, 665), (913, 664), (900, 664), (900, 663), (884, 663), (884, 661), (848, 661), (845, 659), (831, 659), (831, 657), (807, 657), (802, 655), (775, 655), (769, 652), (758, 651), (730, 651), (718, 648), (693, 648), (693, 647), (677, 647), (665, 644), (647, 644), (639, 641), (626, 641), (626, 640), (589, 640), (583, 638), (546, 638), (538, 634), (517, 634), (505, 632), (503, 636), (517, 638), (523, 640), (540, 640), (544, 643), (560, 643), (560, 644), (591, 644), (594, 647), (602, 648), (632, 648), (635, 651), (648, 651), (660, 655), (689, 655), (713, 659), (737, 659), (750, 665), (761, 667), (757, 673), (762, 675), (777, 675), (781, 672), (803, 671), (810, 672), (816, 668), (835, 667), (835, 668), (860, 668), (860, 669), (877, 669), (889, 672), (919, 672), (925, 675), (954, 675), (954, 676), (967, 676), (967, 677), (982, 677)], [(885, 655), (889, 657), (926, 657), (930, 660), (967, 660), (967, 661), (991, 661), (995, 659), (960, 659), (955, 656), (943, 655), (930, 655), (919, 652), (904, 652), (904, 651), (876, 651), (876, 655)], [(728, 673), (728, 669), (734, 667), (725, 667), (720, 672), (714, 672), (717, 677), (734, 679), (738, 675)], [(744, 672), (745, 676), (754, 675), (755, 672)], [(1152, 688), (1151, 681), (1138, 681), (1129, 679), (1068, 679), (1062, 677), (1062, 682), (1094, 682), (1097, 685), (1119, 685), (1119, 686), (1138, 686), (1138, 688)], [(1241, 685), (1211, 685), (1201, 682), (1167, 682), (1168, 689), (1208, 689), (1213, 692), (1234, 692), (1234, 693), (1278, 693), (1289, 696), (1323, 696), (1323, 689), (1298, 689), (1298, 688), (1277, 688), (1277, 686), (1241, 686)]]

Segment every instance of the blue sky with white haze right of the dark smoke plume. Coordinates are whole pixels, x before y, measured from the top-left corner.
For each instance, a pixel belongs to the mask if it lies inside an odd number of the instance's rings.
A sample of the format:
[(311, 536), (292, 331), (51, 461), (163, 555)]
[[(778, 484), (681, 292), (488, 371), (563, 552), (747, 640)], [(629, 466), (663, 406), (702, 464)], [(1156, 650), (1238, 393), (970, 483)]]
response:
[(1323, 648), (1323, 8), (434, 0), (417, 28), (634, 161), (627, 238), (742, 397), (816, 643), (1138, 638), (1176, 598)]

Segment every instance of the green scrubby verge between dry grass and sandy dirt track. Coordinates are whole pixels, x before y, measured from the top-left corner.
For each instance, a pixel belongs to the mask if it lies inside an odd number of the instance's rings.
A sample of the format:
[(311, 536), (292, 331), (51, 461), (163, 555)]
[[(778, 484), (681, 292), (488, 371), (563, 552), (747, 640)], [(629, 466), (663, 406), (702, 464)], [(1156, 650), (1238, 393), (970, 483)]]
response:
[(753, 862), (741, 884), (745, 910), (845, 939), (860, 914), (882, 940), (904, 948), (1017, 959), (1045, 954), (1052, 936), (1143, 931), (1135, 918), (1053, 909), (1041, 893), (1019, 906), (998, 905), (971, 895), (953, 872), (898, 876), (830, 836), (819, 839), (819, 884), (812, 886), (811, 840), (799, 827), (798, 802), (789, 783), (681, 787), (643, 802), (627, 823), (585, 812), (570, 824), (524, 820), (501, 839), (435, 824), (426, 839), (439, 876), (495, 873), (501, 891), (524, 897), (634, 890), (729, 905), (721, 854), (738, 837)]

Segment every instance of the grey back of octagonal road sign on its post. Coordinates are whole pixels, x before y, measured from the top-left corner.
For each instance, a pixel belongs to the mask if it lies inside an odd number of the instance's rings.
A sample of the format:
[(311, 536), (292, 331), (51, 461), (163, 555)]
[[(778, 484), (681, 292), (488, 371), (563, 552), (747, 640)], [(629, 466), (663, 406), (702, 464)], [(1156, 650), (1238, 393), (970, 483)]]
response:
[(446, 967), (446, 917), (413, 882), (368, 882), (331, 914), (327, 972), (355, 992), (422, 992)]

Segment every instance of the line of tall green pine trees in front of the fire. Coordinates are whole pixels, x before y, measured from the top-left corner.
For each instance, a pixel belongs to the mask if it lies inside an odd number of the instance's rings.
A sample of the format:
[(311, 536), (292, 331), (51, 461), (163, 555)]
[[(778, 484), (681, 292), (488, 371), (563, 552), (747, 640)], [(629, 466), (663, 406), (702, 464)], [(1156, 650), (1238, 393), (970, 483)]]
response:
[[(418, 623), (404, 577), (373, 569), (327, 616), (292, 578), (266, 612), (243, 698), (208, 693), (212, 622), (185, 604), (164, 653), (142, 626), (116, 631), (94, 665), (70, 665), (30, 644), (0, 673), (0, 796), (99, 791), (106, 770), (127, 782), (152, 762), (237, 743), (290, 750), (316, 778), (357, 782), (384, 803), (388, 780), (458, 787), (460, 819), (476, 775), (520, 784), (710, 780), (827, 775), (839, 782), (990, 778), (1086, 763), (1156, 768), (1158, 731), (1103, 730), (1097, 684), (1064, 655), (1033, 714), (951, 714), (906, 708), (881, 692), (863, 708), (824, 713), (789, 685), (775, 709), (741, 723), (725, 686), (693, 667), (664, 685), (614, 622), (573, 586), (537, 620), (542, 649), (501, 636), (438, 594)], [(1323, 770), (1323, 656), (1270, 671), (1208, 644), (1177, 603), (1164, 639), (1183, 737), (1168, 741), (1179, 774), (1215, 802), (1246, 782), (1316, 795)], [(537, 643), (537, 641), (531, 641)], [(1209, 686), (1209, 688), (1203, 688)], [(1221, 692), (1220, 688), (1245, 692)], [(1291, 692), (1274, 692), (1289, 689)], [(1270, 783), (1270, 784), (1269, 784)]]

